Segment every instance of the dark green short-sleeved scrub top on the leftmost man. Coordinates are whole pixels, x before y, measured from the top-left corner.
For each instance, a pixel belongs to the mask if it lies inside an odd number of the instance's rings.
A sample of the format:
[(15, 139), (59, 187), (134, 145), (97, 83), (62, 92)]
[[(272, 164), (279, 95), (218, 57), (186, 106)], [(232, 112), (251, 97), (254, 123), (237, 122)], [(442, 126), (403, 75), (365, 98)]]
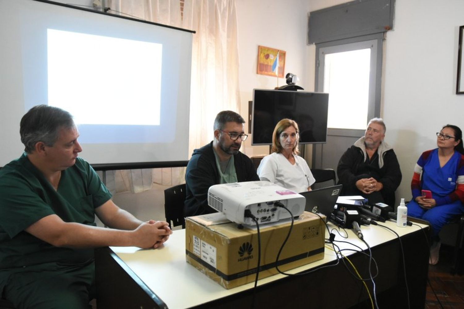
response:
[(95, 226), (95, 208), (110, 198), (95, 170), (81, 158), (61, 172), (57, 191), (26, 153), (5, 165), (0, 170), (0, 294), (13, 273), (89, 265), (93, 249), (58, 248), (24, 230), (50, 214)]

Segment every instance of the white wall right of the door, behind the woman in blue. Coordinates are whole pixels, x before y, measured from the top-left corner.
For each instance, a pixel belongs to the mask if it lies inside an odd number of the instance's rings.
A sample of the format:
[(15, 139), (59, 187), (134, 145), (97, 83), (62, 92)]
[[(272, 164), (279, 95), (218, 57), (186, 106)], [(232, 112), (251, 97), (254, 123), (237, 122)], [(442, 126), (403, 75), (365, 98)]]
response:
[(387, 33), (383, 117), (387, 141), (400, 161), (397, 198), (410, 198), (414, 164), (436, 148), (447, 123), (464, 128), (464, 95), (456, 95), (462, 0), (397, 0), (394, 31)]

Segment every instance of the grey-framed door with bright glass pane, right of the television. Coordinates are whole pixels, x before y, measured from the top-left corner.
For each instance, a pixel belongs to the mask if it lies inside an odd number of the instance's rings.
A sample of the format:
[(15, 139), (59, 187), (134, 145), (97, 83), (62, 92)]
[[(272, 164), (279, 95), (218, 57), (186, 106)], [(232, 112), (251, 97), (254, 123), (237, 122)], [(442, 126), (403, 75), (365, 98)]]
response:
[(380, 116), (383, 34), (316, 44), (316, 91), (329, 93), (327, 143), (313, 147), (313, 168), (338, 160)]

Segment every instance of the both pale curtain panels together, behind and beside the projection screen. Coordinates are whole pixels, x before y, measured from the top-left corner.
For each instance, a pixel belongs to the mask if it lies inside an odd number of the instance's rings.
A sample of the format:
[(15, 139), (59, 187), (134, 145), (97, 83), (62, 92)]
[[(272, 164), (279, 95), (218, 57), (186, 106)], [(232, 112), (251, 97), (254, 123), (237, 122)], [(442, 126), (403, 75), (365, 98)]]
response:
[[(235, 0), (107, 0), (115, 13), (196, 31), (193, 34), (189, 154), (213, 139), (213, 122), (222, 110), (240, 114)], [(122, 15), (124, 15), (122, 14)], [(127, 16), (127, 15), (125, 15)], [(113, 177), (111, 179), (111, 177)], [(185, 168), (117, 170), (107, 175), (114, 191), (134, 193), (159, 183), (185, 181)]]

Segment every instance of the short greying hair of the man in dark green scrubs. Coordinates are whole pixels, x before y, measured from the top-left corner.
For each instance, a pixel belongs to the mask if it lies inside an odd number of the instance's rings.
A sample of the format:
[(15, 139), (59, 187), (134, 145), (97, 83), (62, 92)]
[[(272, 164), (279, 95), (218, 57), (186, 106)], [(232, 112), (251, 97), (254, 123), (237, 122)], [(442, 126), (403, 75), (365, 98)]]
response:
[(76, 125), (70, 113), (58, 107), (37, 105), (21, 118), (19, 134), (24, 151), (32, 153), (38, 142), (53, 146), (62, 128), (71, 129)]

